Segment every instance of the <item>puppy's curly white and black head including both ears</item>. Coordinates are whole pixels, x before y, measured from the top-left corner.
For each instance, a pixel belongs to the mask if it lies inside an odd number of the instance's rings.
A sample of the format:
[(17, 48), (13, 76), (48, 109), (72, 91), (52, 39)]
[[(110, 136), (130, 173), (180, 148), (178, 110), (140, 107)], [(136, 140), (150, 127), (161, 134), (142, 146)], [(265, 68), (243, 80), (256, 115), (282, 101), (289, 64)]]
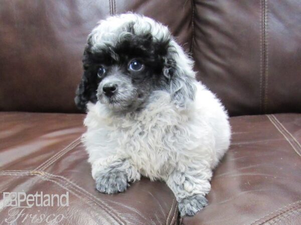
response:
[(75, 102), (85, 109), (98, 100), (127, 112), (142, 107), (154, 90), (165, 90), (185, 108), (195, 95), (192, 66), (166, 26), (132, 13), (111, 16), (88, 36)]

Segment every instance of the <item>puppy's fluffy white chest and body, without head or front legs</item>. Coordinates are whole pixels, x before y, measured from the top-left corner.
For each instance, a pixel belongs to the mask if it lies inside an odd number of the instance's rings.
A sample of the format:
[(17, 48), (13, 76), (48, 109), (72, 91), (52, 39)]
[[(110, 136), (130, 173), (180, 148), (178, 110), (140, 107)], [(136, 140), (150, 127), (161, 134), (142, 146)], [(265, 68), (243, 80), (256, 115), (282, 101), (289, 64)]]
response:
[(206, 157), (214, 166), (219, 151), (228, 147), (229, 124), (217, 100), (206, 105), (206, 97), (214, 95), (201, 87), (198, 92), (191, 107), (181, 111), (164, 91), (155, 91), (142, 111), (126, 115), (114, 115), (99, 102), (88, 105), (83, 140), (89, 162), (118, 155), (151, 179), (164, 178), (183, 160)]

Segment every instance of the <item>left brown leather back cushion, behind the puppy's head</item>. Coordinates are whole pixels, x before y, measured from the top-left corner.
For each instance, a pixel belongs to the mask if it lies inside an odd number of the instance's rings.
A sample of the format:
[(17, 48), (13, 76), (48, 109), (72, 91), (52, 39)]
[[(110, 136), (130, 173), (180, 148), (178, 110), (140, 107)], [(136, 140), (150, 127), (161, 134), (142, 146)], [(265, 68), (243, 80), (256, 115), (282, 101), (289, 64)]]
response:
[(0, 110), (78, 112), (74, 97), (87, 35), (98, 20), (127, 11), (168, 24), (190, 48), (189, 1), (1, 1)]

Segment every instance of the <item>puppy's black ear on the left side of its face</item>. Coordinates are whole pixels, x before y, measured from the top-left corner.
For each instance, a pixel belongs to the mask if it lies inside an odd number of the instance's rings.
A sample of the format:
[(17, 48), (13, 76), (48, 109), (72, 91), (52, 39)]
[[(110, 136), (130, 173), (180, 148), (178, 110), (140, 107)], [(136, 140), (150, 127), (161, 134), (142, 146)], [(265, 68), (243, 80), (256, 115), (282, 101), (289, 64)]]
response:
[(93, 76), (93, 72), (91, 68), (89, 68), (87, 64), (87, 48), (84, 52), (84, 73), (81, 78), (81, 81), (76, 89), (76, 96), (74, 98), (75, 104), (77, 108), (81, 111), (86, 110), (86, 104), (91, 101), (95, 103), (97, 101), (96, 97), (96, 89), (97, 89), (97, 82), (95, 77)]

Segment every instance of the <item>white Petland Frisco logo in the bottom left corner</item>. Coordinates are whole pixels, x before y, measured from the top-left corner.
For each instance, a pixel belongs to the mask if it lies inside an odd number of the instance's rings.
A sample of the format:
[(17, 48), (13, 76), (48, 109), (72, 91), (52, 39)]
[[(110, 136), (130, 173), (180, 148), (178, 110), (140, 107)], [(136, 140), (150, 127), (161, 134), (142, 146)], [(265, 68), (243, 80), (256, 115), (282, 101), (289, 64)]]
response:
[[(38, 208), (27, 211), (27, 208), (36, 207), (53, 207), (69, 206), (69, 192), (65, 194), (44, 194), (43, 191), (35, 194), (27, 194), (26, 192), (3, 192), (3, 203), (5, 207), (10, 206), (9, 216), (4, 219), (7, 223), (60, 223), (67, 218), (64, 214), (45, 214), (41, 213)], [(46, 210), (47, 211), (47, 210)], [(1, 223), (1, 221), (0, 221)]]

